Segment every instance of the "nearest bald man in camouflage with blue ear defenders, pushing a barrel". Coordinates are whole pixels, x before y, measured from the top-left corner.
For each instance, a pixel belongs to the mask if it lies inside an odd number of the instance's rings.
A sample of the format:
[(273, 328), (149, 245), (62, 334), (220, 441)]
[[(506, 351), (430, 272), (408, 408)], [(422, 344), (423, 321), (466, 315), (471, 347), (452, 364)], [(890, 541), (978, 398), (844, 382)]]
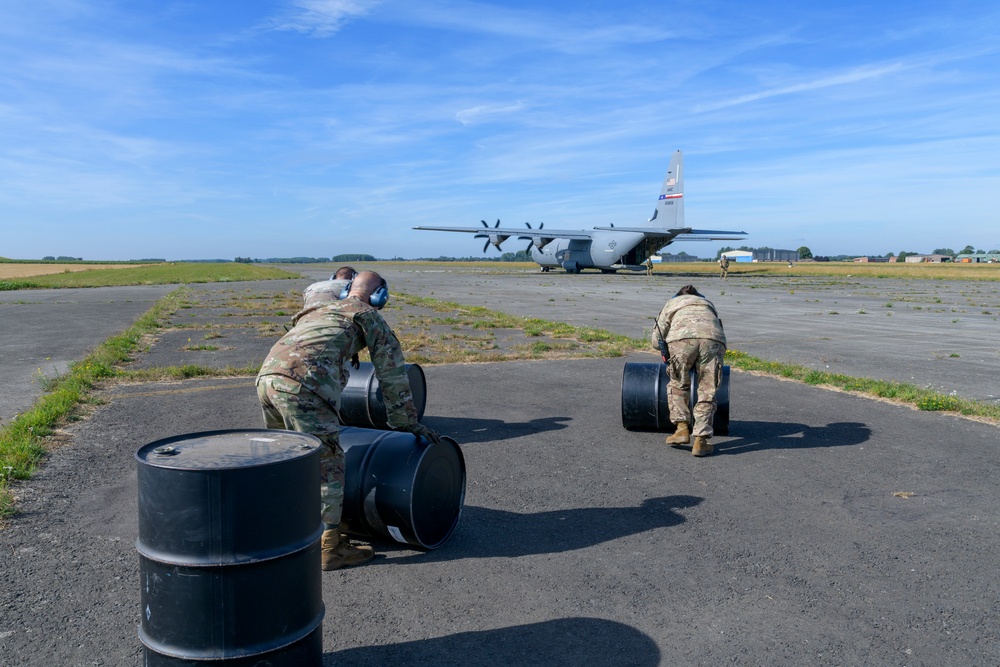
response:
[[(320, 511), (326, 529), (322, 539), (324, 570), (371, 560), (371, 547), (353, 546), (341, 532), (344, 503), (344, 450), (340, 448), (340, 396), (347, 385), (347, 364), (368, 348), (385, 397), (388, 423), (440, 442), (417, 421), (403, 352), (395, 334), (372, 306), (386, 283), (377, 273), (362, 271), (347, 298), (303, 308), (292, 329), (274, 344), (257, 374), (257, 398), (267, 428), (311, 433), (325, 445), (321, 455)], [(388, 291), (384, 292), (388, 298)]]

